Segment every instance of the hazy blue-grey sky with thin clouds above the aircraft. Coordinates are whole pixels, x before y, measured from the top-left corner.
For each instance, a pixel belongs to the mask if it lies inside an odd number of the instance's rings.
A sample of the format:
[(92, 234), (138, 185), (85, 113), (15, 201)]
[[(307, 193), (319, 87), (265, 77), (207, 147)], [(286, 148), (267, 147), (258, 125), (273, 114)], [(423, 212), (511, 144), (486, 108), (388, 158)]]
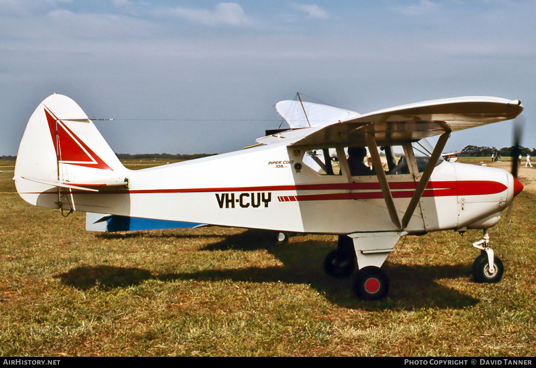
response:
[[(222, 153), (296, 92), (361, 113), (464, 95), (522, 101), (536, 146), (536, 2), (0, 0), (0, 155), (57, 92), (118, 153)], [(158, 120), (162, 119), (162, 120)], [(511, 146), (511, 122), (445, 150)]]

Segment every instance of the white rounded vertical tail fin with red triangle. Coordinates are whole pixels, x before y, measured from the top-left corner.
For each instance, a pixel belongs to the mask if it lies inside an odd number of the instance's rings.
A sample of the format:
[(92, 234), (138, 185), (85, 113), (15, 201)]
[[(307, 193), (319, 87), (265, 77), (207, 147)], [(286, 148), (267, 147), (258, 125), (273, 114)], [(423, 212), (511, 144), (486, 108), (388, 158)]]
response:
[(28, 121), (14, 181), (30, 204), (59, 208), (57, 196), (41, 194), (59, 194), (62, 187), (124, 185), (127, 171), (78, 104), (53, 94)]

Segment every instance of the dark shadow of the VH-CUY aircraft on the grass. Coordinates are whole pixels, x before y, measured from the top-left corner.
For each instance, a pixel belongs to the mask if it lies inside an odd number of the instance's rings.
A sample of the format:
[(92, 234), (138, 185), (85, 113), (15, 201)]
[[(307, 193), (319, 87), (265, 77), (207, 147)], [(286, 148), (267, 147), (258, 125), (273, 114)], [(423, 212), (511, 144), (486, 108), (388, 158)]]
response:
[[(479, 303), (479, 299), (442, 286), (436, 280), (470, 277), (470, 265), (401, 265), (387, 262), (385, 272), (391, 282), (390, 297), (377, 302), (363, 302), (355, 298), (352, 277), (333, 279), (322, 268), (325, 254), (334, 248), (329, 241), (306, 241), (300, 243), (274, 244), (269, 233), (247, 230), (241, 234), (228, 235), (218, 243), (205, 246), (200, 251), (266, 249), (279, 259), (283, 266), (248, 267), (240, 269), (207, 269), (191, 273), (157, 274), (148, 269), (109, 265), (80, 266), (54, 277), (67, 286), (77, 289), (98, 287), (109, 290), (136, 286), (146, 280), (197, 280), (236, 282), (284, 282), (308, 284), (332, 303), (347, 308), (399, 309), (404, 307), (463, 308)], [(146, 234), (145, 234), (146, 235)], [(118, 234), (110, 235), (121, 236)], [(133, 235), (126, 234), (126, 237)], [(135, 235), (134, 235), (135, 236)], [(182, 235), (179, 235), (182, 237)], [(201, 237), (202, 235), (194, 235)], [(205, 235), (209, 236), (209, 235)], [(305, 255), (305, 256), (304, 256)]]

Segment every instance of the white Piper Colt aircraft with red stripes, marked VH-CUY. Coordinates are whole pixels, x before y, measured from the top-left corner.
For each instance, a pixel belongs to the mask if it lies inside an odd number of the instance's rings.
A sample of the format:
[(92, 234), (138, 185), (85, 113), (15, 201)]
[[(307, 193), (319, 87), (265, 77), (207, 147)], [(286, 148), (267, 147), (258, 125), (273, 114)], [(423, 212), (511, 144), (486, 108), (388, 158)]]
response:
[[(481, 250), (473, 275), (501, 279), (488, 228), (523, 185), (505, 170), (448, 162), (441, 152), (453, 131), (518, 116), (518, 100), (456, 97), (363, 115), (301, 101), (276, 109), (290, 129), (254, 147), (129, 170), (84, 111), (54, 94), (29, 119), (14, 181), (24, 200), (62, 213), (338, 235), (325, 271), (355, 273), (362, 299), (388, 293), (380, 267), (398, 239), (430, 231), (483, 229), (473, 243)], [(433, 136), (440, 137), (432, 149), (426, 138)], [(367, 151), (372, 169), (364, 164)], [(310, 160), (316, 155), (323, 160)]]

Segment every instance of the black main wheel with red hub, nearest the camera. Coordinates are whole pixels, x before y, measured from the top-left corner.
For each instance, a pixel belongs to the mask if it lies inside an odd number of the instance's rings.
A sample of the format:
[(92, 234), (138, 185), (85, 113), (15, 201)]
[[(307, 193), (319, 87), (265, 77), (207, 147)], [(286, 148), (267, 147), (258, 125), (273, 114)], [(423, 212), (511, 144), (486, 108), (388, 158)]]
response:
[(382, 299), (389, 292), (389, 277), (379, 267), (363, 267), (355, 275), (354, 292), (364, 301)]

